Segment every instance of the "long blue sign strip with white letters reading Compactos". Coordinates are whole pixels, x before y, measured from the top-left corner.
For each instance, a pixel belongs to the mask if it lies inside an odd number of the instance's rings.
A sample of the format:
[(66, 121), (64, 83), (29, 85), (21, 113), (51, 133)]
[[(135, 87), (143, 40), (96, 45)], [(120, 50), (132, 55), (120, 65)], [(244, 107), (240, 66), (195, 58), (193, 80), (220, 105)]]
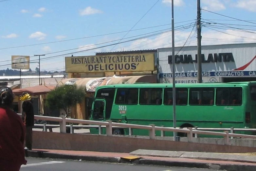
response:
[[(256, 77), (256, 71), (211, 71), (202, 72), (202, 77)], [(160, 78), (172, 78), (172, 73), (160, 74)], [(175, 73), (175, 77), (197, 77), (197, 72)]]

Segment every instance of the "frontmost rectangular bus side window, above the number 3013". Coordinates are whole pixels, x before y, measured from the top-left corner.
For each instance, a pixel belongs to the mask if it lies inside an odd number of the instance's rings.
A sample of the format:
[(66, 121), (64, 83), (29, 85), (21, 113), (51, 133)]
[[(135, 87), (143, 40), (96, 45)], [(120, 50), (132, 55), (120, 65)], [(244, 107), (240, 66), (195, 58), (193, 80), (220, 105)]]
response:
[(138, 89), (137, 88), (120, 88), (117, 90), (116, 104), (118, 105), (137, 105)]

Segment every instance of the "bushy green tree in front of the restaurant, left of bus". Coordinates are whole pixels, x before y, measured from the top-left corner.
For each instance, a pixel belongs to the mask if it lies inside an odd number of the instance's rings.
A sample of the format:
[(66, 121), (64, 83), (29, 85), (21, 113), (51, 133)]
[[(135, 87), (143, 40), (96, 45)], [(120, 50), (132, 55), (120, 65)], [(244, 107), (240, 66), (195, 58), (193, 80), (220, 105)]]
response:
[(50, 109), (63, 109), (69, 116), (71, 107), (82, 103), (85, 96), (85, 90), (76, 85), (63, 85), (56, 87), (47, 95), (46, 106)]

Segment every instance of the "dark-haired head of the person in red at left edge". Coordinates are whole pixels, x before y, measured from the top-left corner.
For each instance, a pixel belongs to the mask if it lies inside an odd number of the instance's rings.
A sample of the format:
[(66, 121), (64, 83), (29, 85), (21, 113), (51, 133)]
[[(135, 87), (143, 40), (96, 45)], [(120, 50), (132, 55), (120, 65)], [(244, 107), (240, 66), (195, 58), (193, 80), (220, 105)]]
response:
[(11, 107), (13, 101), (12, 90), (9, 87), (0, 87), (0, 106), (1, 107)]

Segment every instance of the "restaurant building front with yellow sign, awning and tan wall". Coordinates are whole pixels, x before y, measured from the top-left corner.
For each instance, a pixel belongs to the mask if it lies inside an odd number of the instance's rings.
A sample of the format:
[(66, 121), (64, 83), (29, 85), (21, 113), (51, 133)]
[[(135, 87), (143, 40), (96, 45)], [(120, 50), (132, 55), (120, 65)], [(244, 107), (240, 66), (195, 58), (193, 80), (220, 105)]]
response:
[(65, 57), (68, 78), (58, 86), (83, 87), (86, 95), (70, 117), (89, 119), (95, 89), (102, 85), (157, 82), (157, 50), (96, 53), (95, 56)]

